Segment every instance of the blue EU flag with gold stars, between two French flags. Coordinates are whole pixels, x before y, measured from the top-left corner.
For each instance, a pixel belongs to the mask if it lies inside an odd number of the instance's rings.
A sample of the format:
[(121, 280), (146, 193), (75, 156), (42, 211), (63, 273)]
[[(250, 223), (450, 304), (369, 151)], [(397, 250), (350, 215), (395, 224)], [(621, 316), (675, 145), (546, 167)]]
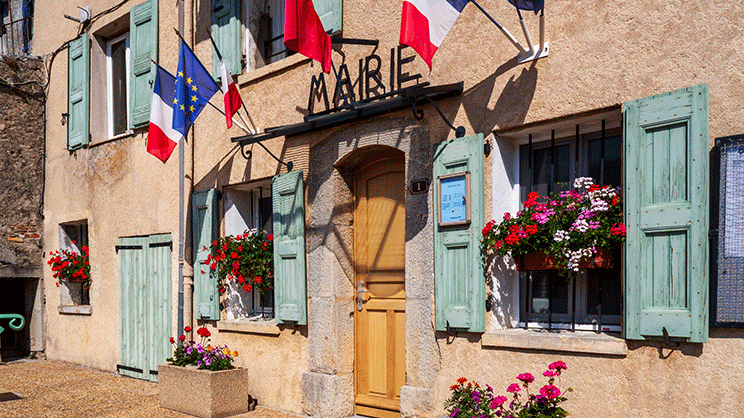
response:
[(176, 94), (173, 99), (173, 129), (185, 138), (191, 124), (219, 89), (204, 65), (181, 39)]

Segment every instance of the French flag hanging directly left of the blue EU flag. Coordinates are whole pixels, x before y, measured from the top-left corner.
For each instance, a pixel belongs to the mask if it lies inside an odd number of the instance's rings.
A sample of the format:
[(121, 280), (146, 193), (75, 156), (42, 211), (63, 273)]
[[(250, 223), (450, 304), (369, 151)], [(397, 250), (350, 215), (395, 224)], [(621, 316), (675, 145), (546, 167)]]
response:
[(147, 133), (147, 152), (160, 161), (168, 161), (181, 140), (181, 133), (173, 129), (173, 103), (176, 98), (176, 78), (159, 65), (150, 104), (150, 129)]

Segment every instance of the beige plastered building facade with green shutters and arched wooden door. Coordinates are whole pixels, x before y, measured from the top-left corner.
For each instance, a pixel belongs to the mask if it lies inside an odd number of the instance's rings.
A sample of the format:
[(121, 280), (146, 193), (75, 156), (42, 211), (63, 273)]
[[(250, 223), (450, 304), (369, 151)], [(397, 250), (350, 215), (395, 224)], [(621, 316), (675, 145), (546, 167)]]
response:
[[(508, 262), (489, 265), (484, 280), (477, 248), (485, 222), (516, 212), (529, 187), (540, 183), (539, 175), (524, 169), (531, 169), (533, 157), (565, 146), (567, 180), (583, 175), (591, 168), (592, 141), (612, 139), (607, 144), (616, 148), (608, 150), (624, 149), (630, 131), (623, 121), (641, 103), (636, 100), (704, 96), (693, 112), (698, 149), (741, 133), (744, 90), (734, 80), (742, 78), (744, 38), (736, 5), (673, 1), (638, 8), (591, 1), (579, 9), (549, 3), (549, 54), (526, 63), (501, 31), (468, 5), (430, 71), (410, 48), (397, 48), (400, 3), (347, 0), (342, 7), (329, 6), (328, 15), (337, 19), (327, 29), (378, 44), (339, 44), (333, 59), (341, 78), (348, 74), (351, 89), (345, 93), (372, 100), (328, 113), (317, 90), (318, 64), (272, 43), (279, 30), (272, 24), (283, 19), (273, 3), (89, 5), (92, 18), (82, 26), (59, 24), (59, 8), (82, 6), (74, 2), (37, 10), (36, 16), (35, 53), (70, 42), (50, 74), (44, 250), (85, 236), (93, 276), (89, 301), (83, 303), (74, 289), (57, 288), (45, 269), (50, 358), (154, 379), (149, 371), (167, 355), (165, 341), (179, 333), (183, 318), (183, 325), (205, 326), (212, 341), (240, 351), (236, 363), (252, 376), (241, 390), (260, 405), (309, 416), (435, 417), (444, 412), (448, 388), (460, 376), (503, 393), (517, 374), (538, 374), (558, 359), (569, 365), (563, 384), (574, 388), (566, 403), (574, 416), (736, 414), (742, 401), (736, 376), (744, 369), (736, 353), (742, 352), (744, 333), (709, 320), (705, 274), (685, 270), (685, 292), (702, 305), (695, 319), (683, 320), (689, 330), (659, 322), (638, 337), (626, 325), (639, 288), (625, 284), (641, 273), (618, 267), (612, 280), (603, 282), (617, 290), (614, 299), (602, 302), (604, 315), (589, 306), (597, 284), (587, 276), (562, 298), (571, 298), (579, 319), (560, 312), (562, 319), (546, 321), (530, 316), (537, 298), (528, 301), (526, 292), (529, 283), (555, 283), (519, 275)], [(517, 32), (518, 18), (508, 2), (482, 6)], [(535, 39), (539, 19), (524, 15)], [(42, 29), (49, 27), (56, 30)], [(126, 56), (116, 55), (117, 48), (124, 42), (131, 68), (139, 65), (133, 57), (145, 51), (175, 72), (178, 37), (171, 28), (179, 28), (212, 71), (209, 33), (217, 38), (258, 135), (227, 130), (224, 116), (207, 108), (183, 149), (163, 164), (145, 151), (146, 123), (131, 112), (125, 115), (129, 119), (116, 121), (111, 88), (116, 64), (109, 63)], [(150, 42), (138, 44), (141, 31), (150, 30)], [(377, 58), (368, 59), (373, 55)], [(83, 70), (76, 67), (80, 62)], [(142, 71), (129, 72), (130, 106), (142, 100), (137, 83), (145, 70), (138, 68)], [(380, 75), (362, 77), (360, 85), (359, 73), (369, 74), (370, 68)], [(80, 84), (89, 87), (89, 102), (75, 107), (80, 102), (71, 98), (77, 90), (69, 88), (79, 83), (70, 74), (79, 71), (89, 71)], [(329, 105), (342, 100), (332, 73), (324, 82)], [(684, 90), (701, 84), (707, 87)], [(376, 91), (368, 93), (365, 86)], [(406, 88), (408, 98), (375, 99)], [(421, 95), (429, 95), (443, 118), (429, 100), (413, 100)], [(221, 107), (219, 94), (212, 102)], [(655, 103), (652, 107), (667, 108)], [(421, 118), (416, 109), (423, 111)], [(56, 116), (64, 113), (66, 124)], [(444, 119), (463, 126), (465, 138), (455, 138)], [(73, 120), (84, 124), (68, 125)], [(83, 132), (75, 136), (82, 139), (70, 142), (71, 132)], [(239, 137), (243, 147), (232, 140)], [(613, 161), (619, 165), (603, 170), (632, 167), (618, 152)], [(284, 164), (289, 161), (291, 170)], [(470, 223), (455, 228), (459, 235), (453, 238), (442, 235), (452, 231), (439, 225), (438, 180), (464, 171), (470, 172), (473, 202), (482, 203), (473, 204)], [(622, 182), (624, 175), (618, 176)], [(186, 199), (179, 207), (182, 178)], [(705, 223), (707, 211), (700, 216), (697, 225)], [(304, 226), (295, 228), (298, 222)], [(295, 263), (294, 273), (277, 275), (273, 303), (230, 287), (221, 295), (202, 264), (203, 245), (249, 228), (272, 228), (275, 263)], [(696, 236), (690, 243), (706, 248), (707, 238)], [(467, 250), (447, 252), (460, 248)], [(132, 273), (135, 259), (145, 260), (151, 273)], [(629, 265), (627, 255), (620, 260), (618, 266)], [(140, 286), (145, 293), (132, 290)], [(600, 293), (600, 300), (605, 297)], [(671, 330), (671, 341), (663, 340), (662, 327)], [(159, 348), (144, 349), (149, 346)]]

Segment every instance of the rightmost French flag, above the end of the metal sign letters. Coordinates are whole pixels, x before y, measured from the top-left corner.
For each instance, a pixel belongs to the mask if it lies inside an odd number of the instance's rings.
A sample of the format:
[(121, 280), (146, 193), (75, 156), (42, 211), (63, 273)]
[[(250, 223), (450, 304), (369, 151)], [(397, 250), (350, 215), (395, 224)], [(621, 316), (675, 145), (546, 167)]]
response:
[(400, 43), (413, 48), (431, 70), (431, 60), (468, 0), (404, 0)]

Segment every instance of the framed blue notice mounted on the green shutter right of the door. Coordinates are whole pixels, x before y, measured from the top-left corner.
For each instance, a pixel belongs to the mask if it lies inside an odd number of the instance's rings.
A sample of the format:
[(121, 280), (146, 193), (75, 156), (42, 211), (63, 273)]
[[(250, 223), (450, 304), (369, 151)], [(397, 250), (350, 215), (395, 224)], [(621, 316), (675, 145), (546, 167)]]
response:
[(437, 177), (439, 226), (470, 223), (470, 172)]

